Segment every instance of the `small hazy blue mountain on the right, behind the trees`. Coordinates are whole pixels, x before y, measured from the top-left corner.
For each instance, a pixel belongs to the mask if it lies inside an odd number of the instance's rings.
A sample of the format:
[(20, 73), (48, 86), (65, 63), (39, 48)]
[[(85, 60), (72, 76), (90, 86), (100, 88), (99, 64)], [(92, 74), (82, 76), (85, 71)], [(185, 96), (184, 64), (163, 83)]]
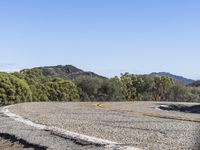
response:
[(184, 78), (182, 76), (177, 76), (177, 75), (173, 75), (171, 73), (168, 73), (168, 72), (153, 72), (151, 74), (149, 74), (149, 76), (168, 76), (172, 79), (174, 79), (175, 81), (179, 82), (179, 83), (182, 83), (182, 84), (191, 84), (194, 82), (194, 80), (192, 79), (187, 79), (187, 78)]

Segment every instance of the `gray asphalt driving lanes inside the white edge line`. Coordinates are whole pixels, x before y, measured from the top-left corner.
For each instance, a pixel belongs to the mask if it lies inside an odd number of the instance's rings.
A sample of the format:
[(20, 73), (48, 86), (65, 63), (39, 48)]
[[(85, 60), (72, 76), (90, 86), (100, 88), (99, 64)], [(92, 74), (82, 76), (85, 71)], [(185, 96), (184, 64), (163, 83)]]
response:
[[(56, 126), (142, 149), (200, 149), (199, 122), (148, 117), (131, 112), (115, 112), (97, 108), (94, 106), (95, 104), (24, 103), (11, 107), (10, 111), (36, 123)], [(152, 102), (103, 104), (113, 109), (139, 110), (162, 115), (200, 118), (199, 114), (157, 110), (155, 107), (158, 103)], [(48, 136), (51, 137), (51, 135), (46, 135), (45, 137)], [(85, 149), (87, 148), (85, 147)]]

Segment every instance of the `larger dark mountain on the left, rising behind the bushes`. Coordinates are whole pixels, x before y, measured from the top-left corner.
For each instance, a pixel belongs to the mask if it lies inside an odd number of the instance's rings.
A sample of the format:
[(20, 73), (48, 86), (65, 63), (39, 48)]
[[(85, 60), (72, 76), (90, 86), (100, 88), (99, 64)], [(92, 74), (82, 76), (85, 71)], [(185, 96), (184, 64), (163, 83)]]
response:
[(100, 76), (94, 72), (83, 71), (72, 65), (45, 66), (37, 68), (42, 70), (43, 75), (51, 77), (63, 77), (66, 79), (74, 79), (79, 76), (90, 76), (90, 77), (106, 79), (106, 77)]

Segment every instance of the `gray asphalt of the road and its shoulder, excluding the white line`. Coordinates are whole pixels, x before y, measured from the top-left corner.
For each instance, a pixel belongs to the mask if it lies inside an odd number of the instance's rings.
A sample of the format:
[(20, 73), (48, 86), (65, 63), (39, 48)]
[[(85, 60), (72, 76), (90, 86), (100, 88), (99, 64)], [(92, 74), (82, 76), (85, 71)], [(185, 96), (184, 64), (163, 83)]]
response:
[[(38, 124), (116, 142), (121, 149), (126, 146), (148, 150), (199, 150), (200, 148), (199, 114), (157, 109), (159, 105), (167, 103), (114, 102), (102, 103), (103, 107), (98, 107), (97, 104), (23, 103), (11, 106), (9, 111)], [(172, 116), (174, 118), (170, 118)], [(77, 143), (77, 140), (72, 138), (38, 130), (3, 114), (0, 118), (0, 132), (8, 132), (43, 148), (106, 149), (102, 145), (85, 141)], [(197, 121), (184, 120), (188, 118)], [(110, 149), (117, 148), (119, 147)]]

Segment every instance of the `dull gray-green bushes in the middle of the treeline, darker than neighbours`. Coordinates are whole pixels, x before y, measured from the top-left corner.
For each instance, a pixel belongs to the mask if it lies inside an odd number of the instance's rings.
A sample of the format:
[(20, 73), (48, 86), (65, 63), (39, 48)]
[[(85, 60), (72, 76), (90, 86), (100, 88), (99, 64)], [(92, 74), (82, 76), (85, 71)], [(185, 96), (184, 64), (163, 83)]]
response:
[(122, 82), (119, 78), (103, 80), (97, 77), (82, 76), (75, 79), (81, 101), (120, 101), (124, 100)]

